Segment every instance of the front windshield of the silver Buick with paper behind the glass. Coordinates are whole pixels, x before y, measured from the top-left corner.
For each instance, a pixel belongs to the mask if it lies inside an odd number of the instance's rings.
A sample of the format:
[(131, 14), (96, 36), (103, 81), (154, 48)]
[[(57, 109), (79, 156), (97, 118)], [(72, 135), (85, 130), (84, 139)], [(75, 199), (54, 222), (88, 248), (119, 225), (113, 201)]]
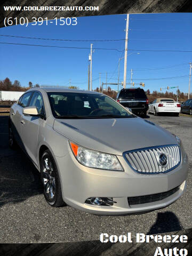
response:
[(103, 94), (47, 92), (55, 118), (129, 118), (135, 117), (116, 101)]

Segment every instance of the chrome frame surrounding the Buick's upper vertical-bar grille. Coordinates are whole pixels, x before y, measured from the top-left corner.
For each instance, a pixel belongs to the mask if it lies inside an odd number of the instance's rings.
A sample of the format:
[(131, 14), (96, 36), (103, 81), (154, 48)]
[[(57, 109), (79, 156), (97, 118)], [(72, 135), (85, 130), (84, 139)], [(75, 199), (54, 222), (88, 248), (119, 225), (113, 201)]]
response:
[[(172, 168), (170, 168), (169, 170), (164, 171), (164, 172), (140, 172), (140, 171), (138, 171), (138, 170), (135, 170), (135, 169), (131, 166), (131, 164), (130, 164), (130, 162), (128, 161), (128, 159), (126, 158), (126, 154), (128, 154), (128, 153), (133, 153), (133, 152), (137, 152), (137, 151), (141, 151), (141, 150), (154, 149), (154, 148), (172, 147), (172, 146), (178, 146), (178, 147), (179, 147), (180, 161), (179, 161), (179, 163), (178, 163), (177, 165), (175, 165), (174, 167), (172, 167)], [(125, 161), (127, 162), (127, 164), (129, 164), (129, 166), (131, 167), (131, 169), (132, 169), (134, 172), (137, 172), (137, 173), (139, 173), (139, 174), (141, 174), (141, 175), (143, 175), (143, 174), (144, 174), (144, 175), (145, 175), (145, 174), (146, 174), (146, 175), (150, 175), (150, 174), (164, 174), (164, 173), (167, 173), (167, 172), (170, 172), (170, 171), (174, 170), (175, 168), (177, 168), (177, 167), (180, 165), (180, 163), (181, 163), (181, 150), (180, 150), (179, 144), (175, 143), (175, 144), (159, 145), (159, 146), (146, 147), (146, 148), (137, 148), (137, 149), (134, 149), (134, 150), (124, 151), (124, 152), (123, 152), (123, 157), (124, 157)]]

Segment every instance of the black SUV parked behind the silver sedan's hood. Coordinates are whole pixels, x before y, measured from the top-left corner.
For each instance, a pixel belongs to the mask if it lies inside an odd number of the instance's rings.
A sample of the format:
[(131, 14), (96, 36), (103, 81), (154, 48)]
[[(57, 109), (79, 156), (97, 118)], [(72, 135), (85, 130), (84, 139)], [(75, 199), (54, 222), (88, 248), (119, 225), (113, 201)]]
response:
[(141, 88), (122, 89), (117, 94), (117, 102), (124, 107), (131, 108), (132, 113), (146, 116), (148, 99), (145, 91)]

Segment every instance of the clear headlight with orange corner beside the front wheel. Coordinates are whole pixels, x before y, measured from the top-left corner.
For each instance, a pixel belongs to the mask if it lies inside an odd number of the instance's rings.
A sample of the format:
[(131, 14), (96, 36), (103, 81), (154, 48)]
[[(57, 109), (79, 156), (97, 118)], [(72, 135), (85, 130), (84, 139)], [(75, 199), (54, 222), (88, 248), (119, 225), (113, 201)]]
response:
[(69, 141), (69, 144), (79, 163), (97, 169), (123, 171), (123, 167), (115, 155), (87, 149), (72, 141)]

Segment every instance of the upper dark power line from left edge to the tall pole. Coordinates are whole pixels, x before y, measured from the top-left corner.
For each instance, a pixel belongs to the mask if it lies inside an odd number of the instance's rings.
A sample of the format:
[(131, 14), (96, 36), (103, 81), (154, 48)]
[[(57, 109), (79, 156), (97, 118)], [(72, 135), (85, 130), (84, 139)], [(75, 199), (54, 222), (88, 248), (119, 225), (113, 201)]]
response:
[(40, 37), (29, 37), (29, 36), (12, 36), (12, 35), (0, 35), (0, 36), (6, 36), (6, 37), (17, 37), (17, 38), (26, 38), (26, 39), (38, 39), (38, 40), (51, 40), (51, 41), (69, 41), (69, 42), (110, 42), (110, 41), (125, 41), (125, 39), (100, 39), (100, 40), (94, 40), (94, 39), (56, 39), (56, 38), (40, 38)]

